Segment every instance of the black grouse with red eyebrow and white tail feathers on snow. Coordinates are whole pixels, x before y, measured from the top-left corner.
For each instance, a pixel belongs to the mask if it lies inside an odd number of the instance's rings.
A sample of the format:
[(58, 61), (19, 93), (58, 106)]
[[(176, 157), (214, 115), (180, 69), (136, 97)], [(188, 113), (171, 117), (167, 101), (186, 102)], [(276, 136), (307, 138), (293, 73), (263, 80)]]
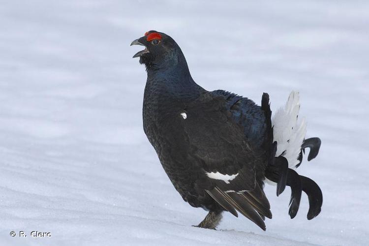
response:
[(147, 31), (132, 45), (147, 72), (143, 128), (169, 180), (185, 202), (209, 213), (198, 224), (216, 229), (224, 212), (239, 213), (266, 230), (272, 218), (264, 185), (277, 185), (277, 196), (291, 188), (289, 215), (295, 217), (302, 192), (307, 219), (319, 215), (323, 196), (318, 184), (296, 172), (307, 149), (308, 161), (320, 149), (317, 137), (305, 139), (299, 92), (291, 92), (272, 116), (268, 93), (261, 105), (236, 93), (207, 91), (192, 79), (184, 54), (169, 35)]

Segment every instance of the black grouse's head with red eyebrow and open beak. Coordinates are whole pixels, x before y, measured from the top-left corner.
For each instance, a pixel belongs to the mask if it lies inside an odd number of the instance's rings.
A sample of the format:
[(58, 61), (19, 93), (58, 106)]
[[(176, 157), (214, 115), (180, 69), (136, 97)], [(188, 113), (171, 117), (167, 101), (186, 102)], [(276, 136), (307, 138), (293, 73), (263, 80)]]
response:
[(176, 63), (179, 53), (182, 54), (173, 38), (158, 31), (147, 31), (143, 37), (134, 40), (131, 46), (135, 44), (145, 46), (145, 49), (137, 52), (133, 58), (139, 57), (140, 63), (144, 63), (147, 69)]

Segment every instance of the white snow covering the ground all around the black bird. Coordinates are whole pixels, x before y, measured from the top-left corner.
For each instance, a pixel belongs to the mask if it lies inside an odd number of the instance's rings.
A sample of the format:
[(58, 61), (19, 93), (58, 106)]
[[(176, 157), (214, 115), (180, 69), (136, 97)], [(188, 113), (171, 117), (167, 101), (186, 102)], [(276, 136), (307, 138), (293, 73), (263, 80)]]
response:
[[(0, 245), (369, 245), (369, 2), (12, 0), (0, 7)], [(142, 130), (132, 40), (171, 35), (195, 81), (272, 110), (300, 92), (319, 155), (298, 172), (323, 191), (288, 216), (267, 185), (267, 231), (186, 204)], [(12, 238), (10, 231), (28, 237)], [(50, 232), (32, 238), (31, 231)]]

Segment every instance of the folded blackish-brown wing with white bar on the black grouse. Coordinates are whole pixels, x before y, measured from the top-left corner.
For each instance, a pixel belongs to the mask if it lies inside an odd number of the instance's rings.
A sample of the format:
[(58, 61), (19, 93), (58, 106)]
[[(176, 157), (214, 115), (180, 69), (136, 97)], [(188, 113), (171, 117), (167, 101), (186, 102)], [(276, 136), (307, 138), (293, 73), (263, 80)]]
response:
[(261, 161), (232, 119), (223, 97), (203, 94), (186, 105), (182, 121), (191, 153), (202, 170), (197, 187), (205, 190), (225, 210), (237, 211), (265, 230), (264, 216), (271, 217), (270, 204), (256, 180)]

